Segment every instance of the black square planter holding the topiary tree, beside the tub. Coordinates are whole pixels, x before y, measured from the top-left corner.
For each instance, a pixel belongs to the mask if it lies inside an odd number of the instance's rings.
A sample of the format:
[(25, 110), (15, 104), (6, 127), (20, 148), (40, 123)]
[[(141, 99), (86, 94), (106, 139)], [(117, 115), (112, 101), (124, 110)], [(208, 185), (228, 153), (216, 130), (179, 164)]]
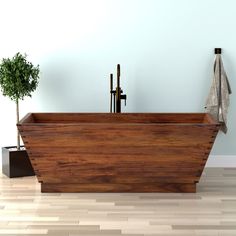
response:
[(35, 175), (26, 150), (12, 148), (2, 148), (2, 173), (9, 178)]

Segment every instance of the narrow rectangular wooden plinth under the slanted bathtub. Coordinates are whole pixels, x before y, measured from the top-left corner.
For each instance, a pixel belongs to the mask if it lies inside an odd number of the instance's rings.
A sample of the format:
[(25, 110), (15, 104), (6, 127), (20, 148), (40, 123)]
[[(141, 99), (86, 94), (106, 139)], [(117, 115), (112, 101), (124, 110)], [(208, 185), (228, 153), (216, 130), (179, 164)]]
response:
[(143, 184), (48, 184), (41, 183), (42, 193), (93, 193), (93, 192), (157, 192), (157, 193), (195, 193), (195, 183), (143, 183)]

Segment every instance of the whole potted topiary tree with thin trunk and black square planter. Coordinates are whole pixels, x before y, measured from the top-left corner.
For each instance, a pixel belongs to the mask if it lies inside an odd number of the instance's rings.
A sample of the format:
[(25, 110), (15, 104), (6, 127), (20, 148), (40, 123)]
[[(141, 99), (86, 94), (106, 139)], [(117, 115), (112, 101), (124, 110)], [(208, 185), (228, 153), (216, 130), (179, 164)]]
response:
[[(33, 66), (26, 55), (19, 52), (13, 58), (2, 59), (0, 64), (0, 86), (4, 96), (16, 103), (16, 122), (19, 122), (19, 101), (31, 97), (39, 79), (39, 65)], [(27, 152), (20, 145), (17, 130), (17, 146), (2, 148), (2, 172), (8, 177), (34, 175)]]

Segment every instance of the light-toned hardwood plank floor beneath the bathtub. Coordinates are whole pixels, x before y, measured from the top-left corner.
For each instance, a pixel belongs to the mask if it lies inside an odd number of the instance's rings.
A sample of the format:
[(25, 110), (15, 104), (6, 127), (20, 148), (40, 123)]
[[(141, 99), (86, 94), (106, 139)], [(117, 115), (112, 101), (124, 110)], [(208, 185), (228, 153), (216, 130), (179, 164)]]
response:
[(208, 168), (196, 194), (40, 193), (0, 175), (0, 235), (236, 235), (236, 168)]

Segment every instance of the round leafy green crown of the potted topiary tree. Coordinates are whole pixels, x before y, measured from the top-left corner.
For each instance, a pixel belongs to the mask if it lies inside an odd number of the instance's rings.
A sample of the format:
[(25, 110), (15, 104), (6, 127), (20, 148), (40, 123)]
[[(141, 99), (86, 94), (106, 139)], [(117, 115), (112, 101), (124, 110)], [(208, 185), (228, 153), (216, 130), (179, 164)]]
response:
[(4, 96), (17, 102), (31, 97), (39, 79), (39, 65), (34, 67), (19, 52), (13, 58), (3, 59), (0, 64), (0, 86)]

